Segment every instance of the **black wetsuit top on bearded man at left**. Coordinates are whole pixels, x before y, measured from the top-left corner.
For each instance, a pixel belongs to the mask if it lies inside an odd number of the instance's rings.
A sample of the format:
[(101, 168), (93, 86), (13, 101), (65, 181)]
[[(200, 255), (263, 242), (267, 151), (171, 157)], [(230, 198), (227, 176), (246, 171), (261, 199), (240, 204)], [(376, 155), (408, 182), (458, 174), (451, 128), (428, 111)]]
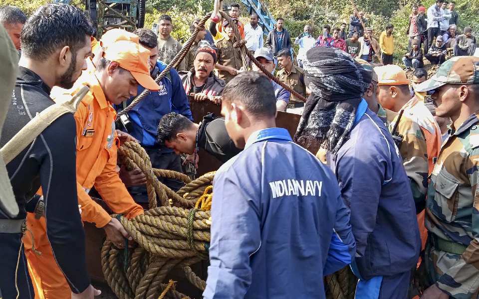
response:
[[(19, 67), (0, 146), (37, 113), (54, 104), (49, 93), (50, 88), (37, 74)], [(80, 293), (89, 286), (90, 279), (85, 262), (85, 233), (78, 210), (75, 143), (75, 120), (67, 113), (48, 126), (6, 168), (20, 209), (15, 219), (26, 217), (29, 210), (26, 203), (42, 188), (46, 232), (53, 255), (72, 292)], [(0, 218), (8, 219), (1, 210)], [(6, 239), (0, 238), (0, 247), (4, 246), (1, 242)], [(13, 259), (16, 263), (16, 256), (2, 259)]]

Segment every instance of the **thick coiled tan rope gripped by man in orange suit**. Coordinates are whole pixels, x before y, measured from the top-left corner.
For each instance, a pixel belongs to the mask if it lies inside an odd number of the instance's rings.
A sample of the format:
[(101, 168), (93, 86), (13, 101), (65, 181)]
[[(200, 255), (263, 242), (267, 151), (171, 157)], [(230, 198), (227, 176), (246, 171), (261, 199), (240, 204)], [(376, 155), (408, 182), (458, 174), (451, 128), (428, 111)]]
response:
[[(110, 241), (103, 244), (101, 262), (110, 288), (120, 299), (189, 298), (171, 282), (165, 283), (172, 270), (180, 270), (193, 286), (204, 290), (206, 283), (190, 266), (208, 259), (211, 213), (206, 199), (211, 196), (214, 173), (191, 181), (182, 173), (154, 169), (146, 151), (133, 142), (119, 149), (119, 158), (127, 169), (138, 167), (147, 176), (150, 209), (130, 220), (114, 215), (136, 245), (120, 250)], [(159, 177), (186, 185), (175, 193)], [(197, 203), (199, 208), (194, 208)]]

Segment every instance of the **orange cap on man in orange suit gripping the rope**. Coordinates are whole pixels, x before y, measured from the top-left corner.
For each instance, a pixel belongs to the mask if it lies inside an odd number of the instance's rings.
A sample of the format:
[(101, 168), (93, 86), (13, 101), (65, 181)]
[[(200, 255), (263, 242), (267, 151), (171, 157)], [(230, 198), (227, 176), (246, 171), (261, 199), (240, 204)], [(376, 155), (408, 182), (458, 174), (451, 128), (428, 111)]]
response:
[(139, 44), (119, 40), (105, 48), (103, 57), (116, 61), (121, 68), (131, 72), (136, 81), (149, 90), (159, 90), (160, 86), (150, 76), (150, 51)]

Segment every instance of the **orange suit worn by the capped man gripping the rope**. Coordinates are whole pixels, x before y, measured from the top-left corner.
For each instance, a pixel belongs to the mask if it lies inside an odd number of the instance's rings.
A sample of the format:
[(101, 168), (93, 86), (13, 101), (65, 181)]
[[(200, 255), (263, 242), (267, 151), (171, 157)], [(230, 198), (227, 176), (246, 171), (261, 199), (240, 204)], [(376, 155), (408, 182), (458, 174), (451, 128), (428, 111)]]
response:
[[(74, 115), (77, 136), (78, 204), (81, 205), (83, 221), (94, 223), (96, 227), (103, 227), (110, 222), (111, 217), (88, 195), (93, 186), (114, 213), (133, 218), (142, 214), (143, 209), (134, 202), (120, 180), (116, 168), (119, 145), (114, 123), (116, 112), (106, 100), (93, 70), (93, 64), (88, 60), (88, 70), (83, 71), (72, 90), (67, 92), (74, 95), (83, 85), (90, 87), (90, 91), (81, 101)], [(61, 140), (58, 141), (58, 146), (61, 147)], [(53, 167), (61, 167), (61, 165), (53, 165)], [(28, 213), (27, 225), (32, 232), (35, 249), (41, 252), (41, 255), (37, 255), (32, 250), (31, 236), (27, 233), (24, 238), (24, 246), (30, 276), (35, 288), (35, 298), (71, 298), (70, 287), (53, 258), (46, 237), (45, 219), (42, 217), (40, 220), (36, 220), (34, 214)]]

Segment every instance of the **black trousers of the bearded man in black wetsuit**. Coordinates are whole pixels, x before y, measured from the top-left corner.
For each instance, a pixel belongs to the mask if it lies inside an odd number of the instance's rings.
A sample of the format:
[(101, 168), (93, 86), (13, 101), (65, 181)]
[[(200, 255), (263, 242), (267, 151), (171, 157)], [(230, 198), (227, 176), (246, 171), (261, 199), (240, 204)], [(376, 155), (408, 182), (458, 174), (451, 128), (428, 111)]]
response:
[[(16, 298), (15, 270), (20, 246), (21, 234), (0, 233), (0, 291), (3, 299)], [(16, 271), (16, 286), (20, 294), (19, 299), (35, 298), (23, 247), (20, 251), (18, 270)]]

